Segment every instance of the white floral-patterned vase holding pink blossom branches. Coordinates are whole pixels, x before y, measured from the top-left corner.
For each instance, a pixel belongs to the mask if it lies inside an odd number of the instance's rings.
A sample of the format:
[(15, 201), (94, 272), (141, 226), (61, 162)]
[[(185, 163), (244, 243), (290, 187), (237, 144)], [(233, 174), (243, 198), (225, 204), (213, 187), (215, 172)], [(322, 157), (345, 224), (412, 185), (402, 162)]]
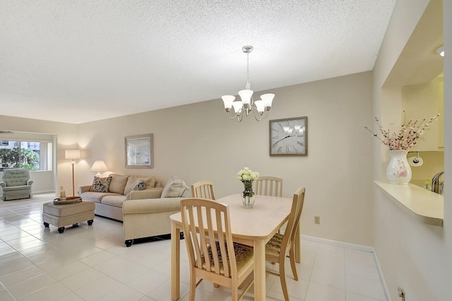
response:
[(411, 167), (407, 160), (408, 151), (393, 150), (389, 153), (391, 160), (386, 169), (386, 177), (388, 177), (389, 182), (392, 184), (408, 184), (412, 176)]

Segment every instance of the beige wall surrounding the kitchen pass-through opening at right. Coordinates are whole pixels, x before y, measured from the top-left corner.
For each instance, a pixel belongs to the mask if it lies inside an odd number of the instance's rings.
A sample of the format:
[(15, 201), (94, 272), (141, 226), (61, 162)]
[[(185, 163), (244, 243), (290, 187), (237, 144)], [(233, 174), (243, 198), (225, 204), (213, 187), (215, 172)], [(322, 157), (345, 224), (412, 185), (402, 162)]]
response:
[[(429, 5), (430, 4), (430, 5)], [(427, 7), (427, 5), (429, 5)], [(427, 7), (427, 10), (426, 10)], [(398, 0), (391, 18), (386, 37), (379, 52), (374, 68), (374, 112), (383, 116), (385, 121), (398, 123), (400, 106), (400, 89), (391, 85), (391, 81), (410, 76), (398, 73), (397, 64), (404, 61), (399, 58), (405, 44), (415, 31), (424, 11), (432, 14), (432, 22), (426, 22), (424, 33), (429, 32), (433, 24), (441, 20), (441, 0)], [(439, 11), (439, 12), (438, 12)], [(450, 18), (452, 2), (444, 1), (444, 45), (452, 49), (452, 28)], [(422, 19), (421, 19), (422, 20)], [(423, 22), (422, 22), (423, 23)], [(412, 49), (410, 49), (412, 50)], [(416, 51), (412, 52), (415, 53)], [(397, 61), (397, 63), (396, 63)], [(405, 61), (406, 63), (406, 61)], [(451, 129), (452, 81), (448, 74), (452, 72), (452, 57), (444, 58), (444, 127)], [(409, 64), (409, 63), (408, 63)], [(415, 68), (413, 64), (406, 70)], [(385, 88), (382, 89), (383, 85)], [(396, 109), (396, 110), (395, 110)], [(397, 112), (397, 113), (394, 113)], [(382, 116), (382, 117), (383, 117)], [(445, 132), (444, 165), (445, 170), (452, 170), (451, 150), (452, 134)], [(374, 145), (374, 178), (381, 179), (381, 170), (386, 158), (386, 150)], [(450, 300), (450, 278), (452, 271), (452, 218), (451, 196), (444, 195), (444, 227), (424, 225), (400, 210), (379, 189), (374, 188), (374, 247), (379, 258), (383, 275), (388, 285), (392, 300), (400, 300), (398, 286), (405, 289), (406, 300)]]

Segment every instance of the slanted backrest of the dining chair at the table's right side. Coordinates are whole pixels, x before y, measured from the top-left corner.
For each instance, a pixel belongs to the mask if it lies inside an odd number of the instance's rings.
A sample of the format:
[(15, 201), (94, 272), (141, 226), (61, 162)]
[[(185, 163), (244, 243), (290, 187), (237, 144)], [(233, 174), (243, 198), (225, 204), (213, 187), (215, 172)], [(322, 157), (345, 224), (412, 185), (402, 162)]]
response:
[(305, 190), (304, 187), (299, 187), (297, 191), (295, 191), (292, 200), (292, 209), (290, 209), (289, 220), (287, 221), (287, 227), (285, 228), (283, 242), (281, 244), (280, 254), (283, 254), (283, 256), (285, 256), (287, 248), (289, 248), (290, 244), (295, 240), (299, 218), (302, 216)]

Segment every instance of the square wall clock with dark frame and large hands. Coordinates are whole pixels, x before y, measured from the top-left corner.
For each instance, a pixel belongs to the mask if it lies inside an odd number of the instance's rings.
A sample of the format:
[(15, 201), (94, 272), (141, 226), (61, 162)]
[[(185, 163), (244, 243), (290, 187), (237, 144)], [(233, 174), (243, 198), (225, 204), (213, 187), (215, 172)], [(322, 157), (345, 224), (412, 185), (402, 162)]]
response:
[(270, 120), (270, 155), (308, 154), (308, 117)]

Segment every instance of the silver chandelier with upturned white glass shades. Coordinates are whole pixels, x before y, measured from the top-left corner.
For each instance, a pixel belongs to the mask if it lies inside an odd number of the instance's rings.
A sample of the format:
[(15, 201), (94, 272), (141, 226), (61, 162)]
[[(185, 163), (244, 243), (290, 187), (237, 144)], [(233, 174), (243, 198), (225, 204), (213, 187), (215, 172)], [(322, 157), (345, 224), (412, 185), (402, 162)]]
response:
[[(253, 47), (246, 45), (242, 47), (242, 51), (246, 53), (246, 85), (245, 90), (239, 91), (239, 96), (242, 100), (234, 101), (235, 96), (232, 95), (224, 95), (221, 98), (225, 102), (227, 117), (230, 119), (237, 117), (237, 120), (242, 122), (244, 116), (248, 116), (253, 112), (254, 118), (260, 122), (261, 119), (268, 116), (275, 94), (263, 94), (261, 95), (261, 100), (253, 100), (254, 92), (251, 90), (251, 83), (249, 83), (249, 53), (253, 51)], [(231, 115), (232, 107), (234, 107), (234, 112)]]

